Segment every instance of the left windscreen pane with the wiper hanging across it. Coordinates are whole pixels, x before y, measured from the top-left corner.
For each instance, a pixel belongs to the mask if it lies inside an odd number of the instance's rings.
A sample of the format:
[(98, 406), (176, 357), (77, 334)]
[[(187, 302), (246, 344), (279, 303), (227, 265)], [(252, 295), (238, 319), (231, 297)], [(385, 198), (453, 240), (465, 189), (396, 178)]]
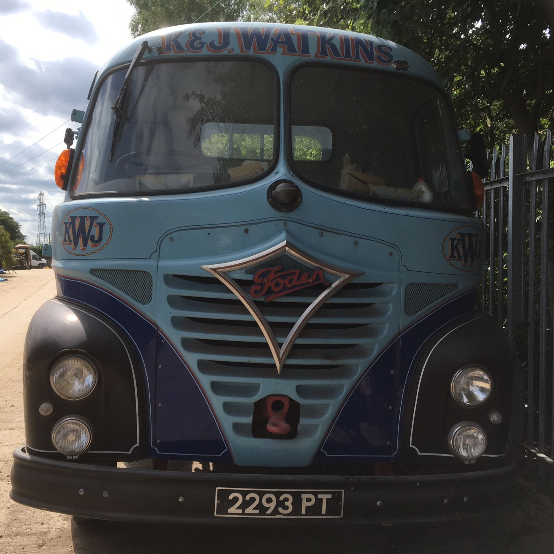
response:
[[(275, 157), (275, 81), (255, 61), (140, 64), (131, 75), (119, 130), (111, 106), (127, 69), (96, 99), (74, 176), (74, 194), (193, 192), (252, 181)], [(260, 127), (243, 148), (203, 146), (205, 127)], [(251, 134), (252, 135), (252, 134)], [(111, 148), (114, 155), (111, 157)]]

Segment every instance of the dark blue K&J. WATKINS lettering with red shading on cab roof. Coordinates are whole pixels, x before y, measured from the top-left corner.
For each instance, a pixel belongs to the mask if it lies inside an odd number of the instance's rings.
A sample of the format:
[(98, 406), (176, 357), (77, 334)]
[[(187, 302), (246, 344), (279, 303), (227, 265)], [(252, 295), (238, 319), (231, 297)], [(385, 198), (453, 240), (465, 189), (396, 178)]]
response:
[[(350, 37), (341, 33), (320, 32), (308, 29), (284, 27), (222, 27), (217, 29), (217, 40), (202, 40), (206, 31), (196, 29), (181, 31), (162, 37), (161, 54), (198, 54), (208, 52), (234, 53), (231, 37), (237, 37), (240, 54), (281, 54), (313, 58), (331, 58), (342, 61), (363, 61), (366, 64), (390, 65), (392, 49), (386, 44), (374, 44), (372, 40)], [(316, 37), (315, 52), (310, 51), (309, 37)]]

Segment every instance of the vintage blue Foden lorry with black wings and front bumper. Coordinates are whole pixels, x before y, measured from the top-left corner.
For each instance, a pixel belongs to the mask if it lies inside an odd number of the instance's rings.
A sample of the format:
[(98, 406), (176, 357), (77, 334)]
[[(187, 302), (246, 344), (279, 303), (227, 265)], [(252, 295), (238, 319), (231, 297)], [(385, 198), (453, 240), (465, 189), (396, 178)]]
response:
[(279, 524), (509, 504), (480, 178), (427, 62), (336, 29), (184, 25), (115, 54), (78, 119), (14, 500)]

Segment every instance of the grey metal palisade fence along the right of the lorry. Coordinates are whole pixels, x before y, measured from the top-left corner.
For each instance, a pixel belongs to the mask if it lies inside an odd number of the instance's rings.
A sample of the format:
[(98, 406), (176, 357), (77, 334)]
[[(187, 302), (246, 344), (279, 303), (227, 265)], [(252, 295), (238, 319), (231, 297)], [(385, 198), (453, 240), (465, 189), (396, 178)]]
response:
[[(512, 135), (485, 182), (481, 307), (504, 326), (517, 369), (512, 439), (554, 470), (554, 178), (552, 133)], [(552, 472), (554, 476), (554, 471)]]

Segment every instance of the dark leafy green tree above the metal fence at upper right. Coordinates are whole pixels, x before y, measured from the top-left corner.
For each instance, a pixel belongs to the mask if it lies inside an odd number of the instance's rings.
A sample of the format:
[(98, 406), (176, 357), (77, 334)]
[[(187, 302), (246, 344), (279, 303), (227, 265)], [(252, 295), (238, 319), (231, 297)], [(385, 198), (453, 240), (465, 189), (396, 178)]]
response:
[(453, 91), (461, 125), (483, 132), (489, 146), (511, 132), (532, 143), (554, 117), (554, 38), (533, 0), (302, 2), (288, 22), (371, 30), (422, 55)]

